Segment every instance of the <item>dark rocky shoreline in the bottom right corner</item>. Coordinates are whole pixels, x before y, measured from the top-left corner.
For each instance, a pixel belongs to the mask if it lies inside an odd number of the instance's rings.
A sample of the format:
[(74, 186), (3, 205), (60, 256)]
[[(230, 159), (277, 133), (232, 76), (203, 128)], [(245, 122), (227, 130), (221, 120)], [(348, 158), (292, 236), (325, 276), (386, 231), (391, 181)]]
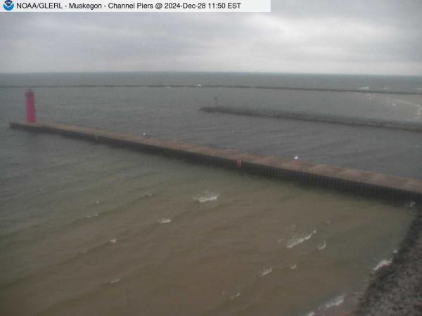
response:
[(376, 272), (352, 315), (422, 315), (421, 206), (392, 263)]

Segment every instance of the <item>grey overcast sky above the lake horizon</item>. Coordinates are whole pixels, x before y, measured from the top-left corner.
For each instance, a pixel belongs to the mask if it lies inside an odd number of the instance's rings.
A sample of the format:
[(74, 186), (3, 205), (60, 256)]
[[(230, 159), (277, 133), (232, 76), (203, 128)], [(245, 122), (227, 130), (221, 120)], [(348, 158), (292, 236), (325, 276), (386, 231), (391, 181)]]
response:
[(0, 27), (0, 72), (422, 75), (422, 0), (272, 0), (271, 13), (0, 13)]

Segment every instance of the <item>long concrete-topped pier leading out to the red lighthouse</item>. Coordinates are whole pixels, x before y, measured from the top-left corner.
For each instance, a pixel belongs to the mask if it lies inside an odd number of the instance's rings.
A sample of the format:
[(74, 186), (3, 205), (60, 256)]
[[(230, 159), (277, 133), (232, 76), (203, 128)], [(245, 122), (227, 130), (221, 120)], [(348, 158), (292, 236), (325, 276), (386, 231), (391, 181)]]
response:
[(13, 129), (37, 133), (57, 133), (72, 138), (129, 147), (143, 152), (164, 154), (169, 157), (188, 159), (193, 162), (222, 166), (262, 176), (296, 180), (301, 183), (331, 187), (335, 190), (354, 192), (359, 195), (422, 202), (422, 180), (417, 179), (298, 162), (280, 157), (193, 145), (177, 140), (135, 136), (77, 125), (11, 122), (10, 126)]

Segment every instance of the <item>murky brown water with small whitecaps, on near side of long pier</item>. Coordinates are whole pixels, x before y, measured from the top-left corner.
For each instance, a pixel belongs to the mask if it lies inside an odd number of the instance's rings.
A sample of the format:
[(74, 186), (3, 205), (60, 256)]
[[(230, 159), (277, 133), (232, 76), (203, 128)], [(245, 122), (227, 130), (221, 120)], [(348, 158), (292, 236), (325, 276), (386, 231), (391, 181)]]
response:
[(412, 218), (373, 199), (8, 133), (23, 145), (2, 186), (1, 315), (329, 315), (352, 308)]

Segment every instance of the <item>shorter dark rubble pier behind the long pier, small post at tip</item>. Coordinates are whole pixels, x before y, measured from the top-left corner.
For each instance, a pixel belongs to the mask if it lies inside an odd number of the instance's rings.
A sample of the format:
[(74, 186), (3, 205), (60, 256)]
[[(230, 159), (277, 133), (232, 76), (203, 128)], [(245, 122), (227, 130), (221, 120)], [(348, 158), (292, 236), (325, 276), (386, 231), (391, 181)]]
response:
[(202, 107), (204, 112), (246, 115), (251, 117), (270, 117), (273, 119), (297, 119), (300, 121), (321, 121), (332, 124), (381, 127), (383, 129), (402, 129), (422, 133), (422, 123), (415, 121), (393, 121), (387, 119), (370, 119), (364, 117), (347, 117), (342, 115), (305, 113), (283, 110), (257, 110), (243, 107)]

